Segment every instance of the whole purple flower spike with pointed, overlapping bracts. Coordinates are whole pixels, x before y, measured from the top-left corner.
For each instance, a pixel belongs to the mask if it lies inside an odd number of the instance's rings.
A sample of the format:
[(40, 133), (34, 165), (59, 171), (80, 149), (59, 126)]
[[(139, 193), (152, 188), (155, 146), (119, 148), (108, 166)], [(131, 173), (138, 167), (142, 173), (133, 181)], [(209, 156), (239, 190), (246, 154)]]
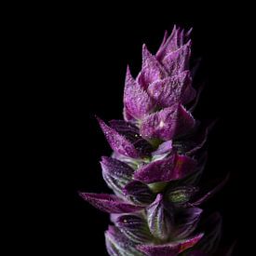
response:
[(199, 186), (211, 125), (191, 113), (199, 94), (192, 87), (190, 34), (175, 26), (155, 55), (143, 45), (141, 72), (133, 77), (127, 69), (124, 120), (105, 123), (97, 117), (114, 151), (101, 158), (101, 169), (115, 195), (80, 195), (111, 214), (114, 225), (105, 232), (111, 256), (218, 251), (221, 216), (201, 220), (199, 206), (227, 179), (210, 189)]

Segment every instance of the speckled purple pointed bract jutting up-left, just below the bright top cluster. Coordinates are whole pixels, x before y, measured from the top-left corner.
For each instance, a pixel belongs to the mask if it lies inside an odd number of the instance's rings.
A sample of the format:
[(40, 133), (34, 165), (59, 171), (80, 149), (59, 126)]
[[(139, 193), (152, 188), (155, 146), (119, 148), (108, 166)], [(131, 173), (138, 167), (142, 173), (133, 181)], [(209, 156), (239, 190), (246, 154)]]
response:
[(137, 150), (130, 141), (128, 141), (123, 135), (119, 134), (114, 128), (107, 126), (99, 117), (97, 117), (97, 119), (107, 141), (115, 152), (133, 158), (139, 157)]

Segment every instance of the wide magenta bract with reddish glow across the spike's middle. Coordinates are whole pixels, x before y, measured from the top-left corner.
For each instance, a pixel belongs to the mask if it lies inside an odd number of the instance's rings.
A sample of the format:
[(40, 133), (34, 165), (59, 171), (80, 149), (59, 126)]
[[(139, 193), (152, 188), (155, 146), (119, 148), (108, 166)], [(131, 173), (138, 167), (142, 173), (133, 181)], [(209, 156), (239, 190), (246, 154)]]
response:
[(145, 182), (168, 182), (184, 178), (193, 172), (196, 162), (185, 155), (170, 155), (139, 168), (134, 173), (134, 179)]

